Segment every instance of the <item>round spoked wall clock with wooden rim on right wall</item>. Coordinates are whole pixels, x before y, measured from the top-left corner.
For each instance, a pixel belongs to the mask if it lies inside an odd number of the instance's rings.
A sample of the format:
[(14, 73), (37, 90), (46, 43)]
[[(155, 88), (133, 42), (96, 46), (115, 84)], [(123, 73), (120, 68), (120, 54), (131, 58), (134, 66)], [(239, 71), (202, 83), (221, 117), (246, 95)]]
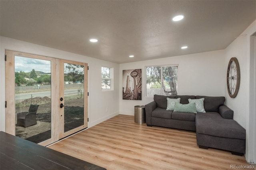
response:
[(240, 67), (238, 60), (233, 57), (228, 63), (227, 87), (230, 98), (235, 98), (240, 86)]

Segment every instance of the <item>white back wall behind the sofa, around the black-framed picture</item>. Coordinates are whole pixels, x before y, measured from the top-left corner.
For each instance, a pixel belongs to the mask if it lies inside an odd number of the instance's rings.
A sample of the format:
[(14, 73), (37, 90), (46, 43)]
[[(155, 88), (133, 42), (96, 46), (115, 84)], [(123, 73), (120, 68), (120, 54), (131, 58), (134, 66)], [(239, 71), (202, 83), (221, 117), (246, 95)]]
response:
[(120, 73), (122, 70), (142, 69), (142, 100), (122, 99), (120, 74), (120, 114), (134, 115), (134, 106), (153, 101), (153, 98), (145, 97), (145, 66), (168, 64), (178, 64), (178, 95), (224, 96), (224, 50), (125, 63), (120, 64)]

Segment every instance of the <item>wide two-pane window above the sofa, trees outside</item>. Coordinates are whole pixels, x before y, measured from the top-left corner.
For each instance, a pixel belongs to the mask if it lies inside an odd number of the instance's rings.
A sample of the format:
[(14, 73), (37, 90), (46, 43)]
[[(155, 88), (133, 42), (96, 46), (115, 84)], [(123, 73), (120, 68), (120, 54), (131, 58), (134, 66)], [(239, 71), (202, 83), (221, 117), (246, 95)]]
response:
[(146, 66), (146, 97), (178, 94), (178, 65)]

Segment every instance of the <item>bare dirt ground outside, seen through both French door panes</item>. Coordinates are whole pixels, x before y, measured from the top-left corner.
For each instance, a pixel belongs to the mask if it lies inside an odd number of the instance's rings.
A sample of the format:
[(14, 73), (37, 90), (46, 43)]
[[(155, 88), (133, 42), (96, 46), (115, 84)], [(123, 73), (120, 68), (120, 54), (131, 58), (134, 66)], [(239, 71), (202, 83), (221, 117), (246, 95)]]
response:
[[(20, 107), (16, 108), (17, 113), (28, 111), (31, 104), (30, 99), (23, 100)], [(16, 136), (27, 139), (34, 143), (40, 143), (51, 138), (51, 99), (48, 97), (33, 98), (32, 104), (38, 104), (36, 113), (36, 125), (30, 127), (16, 126)], [(84, 124), (84, 98), (72, 98), (65, 101), (64, 107), (64, 131), (69, 131)], [(56, 107), (59, 107), (56, 104)]]

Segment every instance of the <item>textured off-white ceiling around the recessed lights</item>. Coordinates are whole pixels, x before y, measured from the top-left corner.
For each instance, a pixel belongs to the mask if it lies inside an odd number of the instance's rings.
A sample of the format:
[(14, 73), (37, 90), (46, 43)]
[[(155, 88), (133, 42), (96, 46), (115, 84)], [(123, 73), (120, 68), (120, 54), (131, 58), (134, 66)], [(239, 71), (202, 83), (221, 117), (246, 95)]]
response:
[(254, 20), (256, 0), (0, 0), (1, 36), (114, 63), (225, 49)]

